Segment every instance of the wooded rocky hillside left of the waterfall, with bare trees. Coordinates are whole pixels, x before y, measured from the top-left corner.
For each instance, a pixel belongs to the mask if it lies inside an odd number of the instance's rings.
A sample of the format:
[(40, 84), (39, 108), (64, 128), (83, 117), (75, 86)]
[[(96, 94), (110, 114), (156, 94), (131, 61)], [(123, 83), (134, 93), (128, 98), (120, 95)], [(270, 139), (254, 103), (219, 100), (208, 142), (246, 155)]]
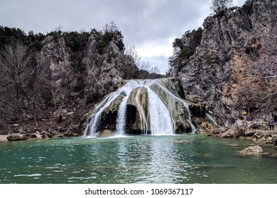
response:
[(161, 77), (139, 69), (135, 53), (114, 22), (46, 35), (0, 26), (0, 134), (80, 133), (87, 110), (126, 79)]

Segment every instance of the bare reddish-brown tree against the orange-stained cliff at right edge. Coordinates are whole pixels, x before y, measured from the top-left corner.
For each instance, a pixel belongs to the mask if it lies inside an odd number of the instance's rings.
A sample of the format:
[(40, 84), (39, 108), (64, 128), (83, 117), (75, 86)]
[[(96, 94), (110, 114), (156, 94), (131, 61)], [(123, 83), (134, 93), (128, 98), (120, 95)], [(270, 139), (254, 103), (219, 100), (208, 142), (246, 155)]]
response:
[(253, 40), (254, 45), (249, 47), (243, 76), (249, 83), (238, 89), (239, 100), (234, 103), (234, 109), (246, 105), (250, 111), (260, 110), (261, 106), (267, 112), (277, 110), (277, 28), (268, 29), (261, 33), (262, 39)]

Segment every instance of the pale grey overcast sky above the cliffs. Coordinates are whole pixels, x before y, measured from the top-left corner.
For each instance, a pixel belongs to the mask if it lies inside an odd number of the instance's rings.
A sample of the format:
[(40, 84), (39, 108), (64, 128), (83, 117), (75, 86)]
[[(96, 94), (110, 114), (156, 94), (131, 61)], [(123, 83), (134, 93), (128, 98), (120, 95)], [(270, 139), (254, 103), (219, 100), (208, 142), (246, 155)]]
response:
[[(242, 6), (246, 0), (234, 0)], [(187, 30), (202, 26), (212, 0), (0, 0), (0, 25), (28, 34), (102, 30), (114, 21), (125, 45), (134, 45), (143, 61), (164, 74), (172, 43)]]

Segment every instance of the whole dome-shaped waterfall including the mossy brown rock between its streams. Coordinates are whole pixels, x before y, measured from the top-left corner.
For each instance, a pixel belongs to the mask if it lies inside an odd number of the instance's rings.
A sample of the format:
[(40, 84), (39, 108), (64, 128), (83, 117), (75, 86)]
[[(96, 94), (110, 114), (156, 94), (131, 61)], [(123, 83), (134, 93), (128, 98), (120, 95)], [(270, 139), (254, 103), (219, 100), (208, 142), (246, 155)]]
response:
[(116, 135), (131, 131), (174, 134), (177, 129), (186, 127), (190, 127), (192, 133), (196, 131), (188, 103), (179, 97), (170, 78), (131, 80), (94, 108), (84, 136), (95, 136), (104, 129)]

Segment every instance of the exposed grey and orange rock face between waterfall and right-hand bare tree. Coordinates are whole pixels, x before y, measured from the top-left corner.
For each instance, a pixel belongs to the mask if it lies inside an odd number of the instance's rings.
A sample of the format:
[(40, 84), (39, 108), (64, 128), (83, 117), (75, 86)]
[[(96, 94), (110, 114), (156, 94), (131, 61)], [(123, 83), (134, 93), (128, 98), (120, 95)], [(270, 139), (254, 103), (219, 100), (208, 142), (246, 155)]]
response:
[[(245, 72), (264, 56), (264, 35), (276, 25), (276, 15), (276, 1), (254, 0), (243, 8), (229, 8), (221, 15), (207, 17), (200, 45), (177, 75), (185, 98), (204, 105), (228, 127), (234, 124), (243, 105), (241, 87), (258, 86)], [(248, 105), (263, 110), (260, 101)], [(253, 115), (253, 119), (259, 116)]]

